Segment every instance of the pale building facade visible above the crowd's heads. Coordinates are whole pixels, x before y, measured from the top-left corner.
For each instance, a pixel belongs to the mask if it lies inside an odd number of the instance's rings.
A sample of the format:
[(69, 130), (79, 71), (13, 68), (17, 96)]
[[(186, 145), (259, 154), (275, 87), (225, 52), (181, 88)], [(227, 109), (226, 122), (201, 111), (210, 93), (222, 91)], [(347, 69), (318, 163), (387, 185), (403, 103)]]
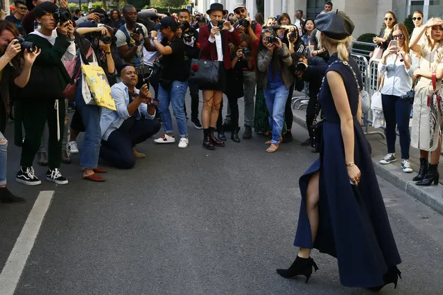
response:
[[(253, 19), (257, 12), (256, 0), (193, 0), (194, 9), (206, 12), (211, 3), (222, 3), (225, 9), (232, 12), (236, 3), (244, 3), (250, 17)], [(443, 0), (331, 0), (333, 9), (342, 10), (356, 24), (353, 36), (357, 38), (364, 33), (378, 34), (383, 25), (386, 11), (397, 15), (398, 21), (403, 21), (415, 10), (424, 12), (424, 19), (443, 17)], [(325, 0), (265, 0), (264, 17), (280, 15), (288, 12), (293, 18), (295, 10), (303, 10), (304, 18), (318, 15), (323, 10)], [(291, 19), (293, 20), (293, 19)]]

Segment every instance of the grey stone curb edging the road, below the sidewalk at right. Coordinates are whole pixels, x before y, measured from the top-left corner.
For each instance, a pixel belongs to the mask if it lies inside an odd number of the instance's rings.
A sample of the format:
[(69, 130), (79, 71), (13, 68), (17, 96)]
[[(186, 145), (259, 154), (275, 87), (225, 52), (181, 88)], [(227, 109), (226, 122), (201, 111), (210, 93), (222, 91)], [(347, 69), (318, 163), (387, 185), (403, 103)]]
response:
[[(306, 114), (306, 112), (293, 110), (293, 114), (294, 122), (307, 129), (305, 118), (302, 116)], [(379, 159), (372, 158), (372, 164), (376, 175), (379, 175), (379, 177), (385, 179), (385, 181), (388, 181), (419, 202), (422, 202), (437, 213), (443, 215), (443, 193), (441, 186), (416, 186), (415, 181), (412, 181), (412, 178), (415, 176), (414, 172), (405, 177), (405, 173), (394, 170), (395, 168), (393, 166), (381, 165)]]

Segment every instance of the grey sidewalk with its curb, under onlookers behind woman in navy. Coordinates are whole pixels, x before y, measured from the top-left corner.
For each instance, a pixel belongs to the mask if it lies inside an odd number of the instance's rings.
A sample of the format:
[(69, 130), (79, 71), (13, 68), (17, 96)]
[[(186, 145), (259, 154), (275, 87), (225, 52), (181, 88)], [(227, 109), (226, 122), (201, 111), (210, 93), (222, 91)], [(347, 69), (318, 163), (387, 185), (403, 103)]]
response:
[[(299, 93), (301, 94), (301, 93)], [(298, 107), (299, 103), (297, 103)], [(306, 106), (293, 109), (294, 122), (306, 128)], [(374, 128), (370, 127), (370, 130)], [(381, 130), (381, 129), (378, 129)], [(307, 138), (307, 132), (306, 132)], [(388, 153), (386, 147), (386, 140), (378, 134), (369, 134), (366, 136), (372, 146), (372, 163), (374, 163), (374, 169), (377, 175), (390, 182), (397, 188), (400, 188), (404, 192), (408, 193), (415, 199), (419, 200), (426, 206), (433, 208), (433, 210), (443, 215), (443, 177), (440, 177), (440, 184), (438, 186), (416, 186), (415, 181), (412, 181), (417, 175), (419, 170), (419, 150), (410, 148), (410, 165), (414, 170), (412, 173), (405, 173), (401, 170), (400, 159), (400, 145), (397, 139), (397, 161), (388, 165), (381, 165), (379, 161)], [(440, 173), (443, 176), (443, 157), (440, 157)]]

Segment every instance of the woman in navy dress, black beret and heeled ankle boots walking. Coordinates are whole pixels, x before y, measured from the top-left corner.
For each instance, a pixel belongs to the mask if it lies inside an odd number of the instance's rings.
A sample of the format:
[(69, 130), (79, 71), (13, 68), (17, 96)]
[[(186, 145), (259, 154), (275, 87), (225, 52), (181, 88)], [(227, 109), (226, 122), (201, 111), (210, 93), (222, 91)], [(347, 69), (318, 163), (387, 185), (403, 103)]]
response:
[(377, 183), (370, 145), (361, 118), (361, 75), (349, 44), (354, 23), (345, 12), (328, 12), (315, 19), (318, 39), (331, 56), (320, 104), (324, 114), (320, 159), (299, 179), (302, 204), (294, 246), (297, 258), (284, 278), (306, 276), (318, 269), (311, 249), (338, 260), (340, 282), (347, 287), (379, 290), (394, 283), (401, 258)]

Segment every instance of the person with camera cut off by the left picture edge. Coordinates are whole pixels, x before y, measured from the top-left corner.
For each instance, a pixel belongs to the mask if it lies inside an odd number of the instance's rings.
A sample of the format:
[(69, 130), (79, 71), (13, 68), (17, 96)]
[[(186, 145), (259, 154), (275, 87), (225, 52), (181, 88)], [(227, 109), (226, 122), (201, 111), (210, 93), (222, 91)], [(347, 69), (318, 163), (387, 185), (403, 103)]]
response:
[[(15, 204), (26, 201), (21, 197), (12, 195), (6, 188), (8, 141), (3, 134), (5, 133), (6, 123), (8, 123), (9, 88), (12, 81), (17, 87), (26, 85), (35, 58), (40, 54), (40, 51), (35, 51), (35, 48), (26, 48), (26, 44), (24, 44), (25, 48), (21, 48), (21, 44), (16, 39), (18, 35), (19, 31), (14, 24), (0, 20), (0, 202)], [(20, 69), (18, 54), (22, 49), (24, 49), (24, 63)]]

